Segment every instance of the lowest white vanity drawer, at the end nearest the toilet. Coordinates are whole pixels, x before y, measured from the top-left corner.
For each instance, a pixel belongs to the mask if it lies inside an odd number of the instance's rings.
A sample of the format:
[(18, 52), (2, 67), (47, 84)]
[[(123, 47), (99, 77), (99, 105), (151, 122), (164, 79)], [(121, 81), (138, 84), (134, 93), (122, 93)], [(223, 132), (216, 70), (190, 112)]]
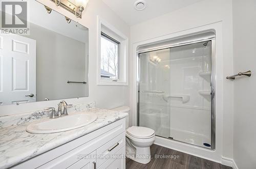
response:
[(111, 158), (103, 163), (98, 169), (125, 169), (125, 146), (116, 152), (119, 158)]

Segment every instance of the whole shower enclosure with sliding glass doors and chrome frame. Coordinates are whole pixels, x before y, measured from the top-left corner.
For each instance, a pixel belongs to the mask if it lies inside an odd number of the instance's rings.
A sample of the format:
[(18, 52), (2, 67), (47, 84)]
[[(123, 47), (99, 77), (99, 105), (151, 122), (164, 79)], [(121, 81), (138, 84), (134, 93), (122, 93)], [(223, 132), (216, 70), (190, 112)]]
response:
[(157, 136), (215, 149), (215, 36), (178, 38), (138, 51), (138, 124)]

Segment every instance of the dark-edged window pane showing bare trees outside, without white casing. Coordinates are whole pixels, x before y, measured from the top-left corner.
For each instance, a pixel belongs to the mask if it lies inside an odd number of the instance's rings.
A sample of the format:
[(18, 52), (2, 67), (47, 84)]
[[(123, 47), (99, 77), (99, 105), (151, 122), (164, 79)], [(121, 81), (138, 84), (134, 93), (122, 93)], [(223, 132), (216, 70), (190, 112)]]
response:
[(120, 79), (120, 42), (101, 32), (100, 77)]

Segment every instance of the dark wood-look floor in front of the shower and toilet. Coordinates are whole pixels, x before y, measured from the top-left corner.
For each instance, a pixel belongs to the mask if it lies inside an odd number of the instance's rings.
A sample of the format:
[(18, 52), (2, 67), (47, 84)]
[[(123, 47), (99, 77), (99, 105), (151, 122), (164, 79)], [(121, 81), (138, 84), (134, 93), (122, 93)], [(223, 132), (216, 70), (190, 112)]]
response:
[[(156, 155), (168, 156), (165, 156), (166, 158), (156, 158)], [(168, 149), (155, 144), (151, 146), (151, 156), (152, 159), (147, 164), (141, 164), (129, 158), (126, 158), (126, 169), (232, 169), (232, 167), (225, 166), (217, 162), (209, 161), (200, 157)], [(178, 156), (179, 158), (177, 158)]]

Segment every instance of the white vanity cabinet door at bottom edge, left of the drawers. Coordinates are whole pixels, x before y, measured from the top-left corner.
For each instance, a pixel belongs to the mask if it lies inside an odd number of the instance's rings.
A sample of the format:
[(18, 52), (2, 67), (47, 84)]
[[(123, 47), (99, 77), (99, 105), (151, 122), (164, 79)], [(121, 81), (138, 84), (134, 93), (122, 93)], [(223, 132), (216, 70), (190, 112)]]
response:
[(73, 165), (69, 166), (68, 169), (96, 169), (96, 151), (80, 159)]

